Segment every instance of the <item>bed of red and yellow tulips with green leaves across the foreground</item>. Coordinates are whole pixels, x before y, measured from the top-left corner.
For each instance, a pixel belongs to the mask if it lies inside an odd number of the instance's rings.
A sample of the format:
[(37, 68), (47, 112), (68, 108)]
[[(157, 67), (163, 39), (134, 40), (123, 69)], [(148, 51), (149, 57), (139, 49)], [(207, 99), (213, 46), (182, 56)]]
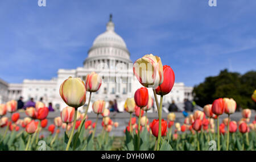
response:
[[(162, 119), (164, 95), (171, 92), (175, 74), (168, 65), (162, 65), (161, 59), (152, 54), (145, 55), (134, 63), (134, 74), (143, 86), (134, 97), (127, 98), (124, 109), (130, 114), (129, 124), (123, 130), (125, 138), (117, 141), (109, 136), (118, 123), (110, 119), (110, 111), (105, 109), (104, 100), (92, 103), (96, 122), (88, 120), (88, 109), (92, 93), (100, 89), (101, 77), (92, 72), (86, 76), (85, 83), (81, 78), (67, 78), (60, 86), (60, 97), (68, 105), (63, 107), (54, 124), (48, 126), (51, 135), (40, 135), (47, 126), (48, 108), (42, 102), (26, 108), (28, 117), (19, 119), (17, 102), (9, 101), (0, 105), (0, 126), (5, 128), (0, 135), (0, 150), (126, 150), (126, 151), (171, 151), (171, 150), (254, 150), (256, 147), (256, 119), (250, 123), (251, 110), (243, 109), (239, 122), (231, 121), (230, 115), (236, 111), (233, 98), (218, 98), (212, 105), (205, 105), (204, 111), (196, 110), (184, 119), (184, 124), (175, 122), (175, 114), (170, 113), (167, 120)], [(158, 110), (158, 119), (148, 123), (147, 111), (151, 109), (154, 99), (148, 91), (152, 90)], [(88, 106), (81, 114), (78, 108), (85, 105), (86, 92), (89, 92)], [(157, 95), (160, 96), (160, 102)], [(256, 91), (252, 95), (254, 101)], [(5, 117), (7, 111), (10, 118)], [(137, 118), (131, 118), (132, 114)], [(184, 112), (183, 112), (184, 113)], [(219, 123), (222, 114), (228, 118)], [(102, 131), (96, 135), (99, 127), (99, 115), (102, 116)], [(216, 124), (217, 123), (217, 124)], [(22, 128), (23, 127), (23, 130)], [(55, 129), (56, 128), (56, 129)], [(61, 128), (63, 133), (60, 134)], [(172, 128), (175, 128), (174, 132)], [(217, 131), (216, 131), (217, 128)], [(10, 133), (9, 133), (10, 130)], [(239, 130), (239, 132), (237, 131)], [(8, 133), (7, 133), (8, 132)]]

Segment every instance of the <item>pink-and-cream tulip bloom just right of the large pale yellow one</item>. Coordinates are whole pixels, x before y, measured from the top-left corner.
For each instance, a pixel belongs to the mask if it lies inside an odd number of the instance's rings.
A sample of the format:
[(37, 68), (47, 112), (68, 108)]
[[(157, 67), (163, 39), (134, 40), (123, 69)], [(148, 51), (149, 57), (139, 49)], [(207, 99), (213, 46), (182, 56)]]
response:
[(91, 72), (90, 74), (87, 74), (85, 79), (86, 91), (97, 92), (101, 87), (101, 82), (101, 77), (97, 73)]

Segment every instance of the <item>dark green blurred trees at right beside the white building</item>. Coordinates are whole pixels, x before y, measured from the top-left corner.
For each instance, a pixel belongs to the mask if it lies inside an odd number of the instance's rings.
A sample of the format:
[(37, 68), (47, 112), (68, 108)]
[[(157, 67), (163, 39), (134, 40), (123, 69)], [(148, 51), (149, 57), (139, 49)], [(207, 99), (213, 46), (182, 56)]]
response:
[(217, 98), (234, 98), (237, 107), (256, 109), (255, 102), (251, 99), (256, 89), (256, 71), (243, 75), (236, 72), (221, 70), (218, 76), (207, 77), (205, 81), (193, 89), (197, 105), (203, 107), (212, 103)]

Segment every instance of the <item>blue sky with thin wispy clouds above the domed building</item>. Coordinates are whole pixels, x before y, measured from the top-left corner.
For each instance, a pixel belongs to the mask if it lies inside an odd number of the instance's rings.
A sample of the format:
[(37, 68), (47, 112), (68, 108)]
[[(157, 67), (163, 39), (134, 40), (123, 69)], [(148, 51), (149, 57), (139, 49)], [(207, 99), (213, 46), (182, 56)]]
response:
[(256, 66), (256, 1), (208, 0), (0, 2), (0, 78), (51, 79), (82, 66), (113, 14), (131, 60), (148, 53), (174, 69), (176, 82), (194, 86), (221, 69), (245, 73)]

